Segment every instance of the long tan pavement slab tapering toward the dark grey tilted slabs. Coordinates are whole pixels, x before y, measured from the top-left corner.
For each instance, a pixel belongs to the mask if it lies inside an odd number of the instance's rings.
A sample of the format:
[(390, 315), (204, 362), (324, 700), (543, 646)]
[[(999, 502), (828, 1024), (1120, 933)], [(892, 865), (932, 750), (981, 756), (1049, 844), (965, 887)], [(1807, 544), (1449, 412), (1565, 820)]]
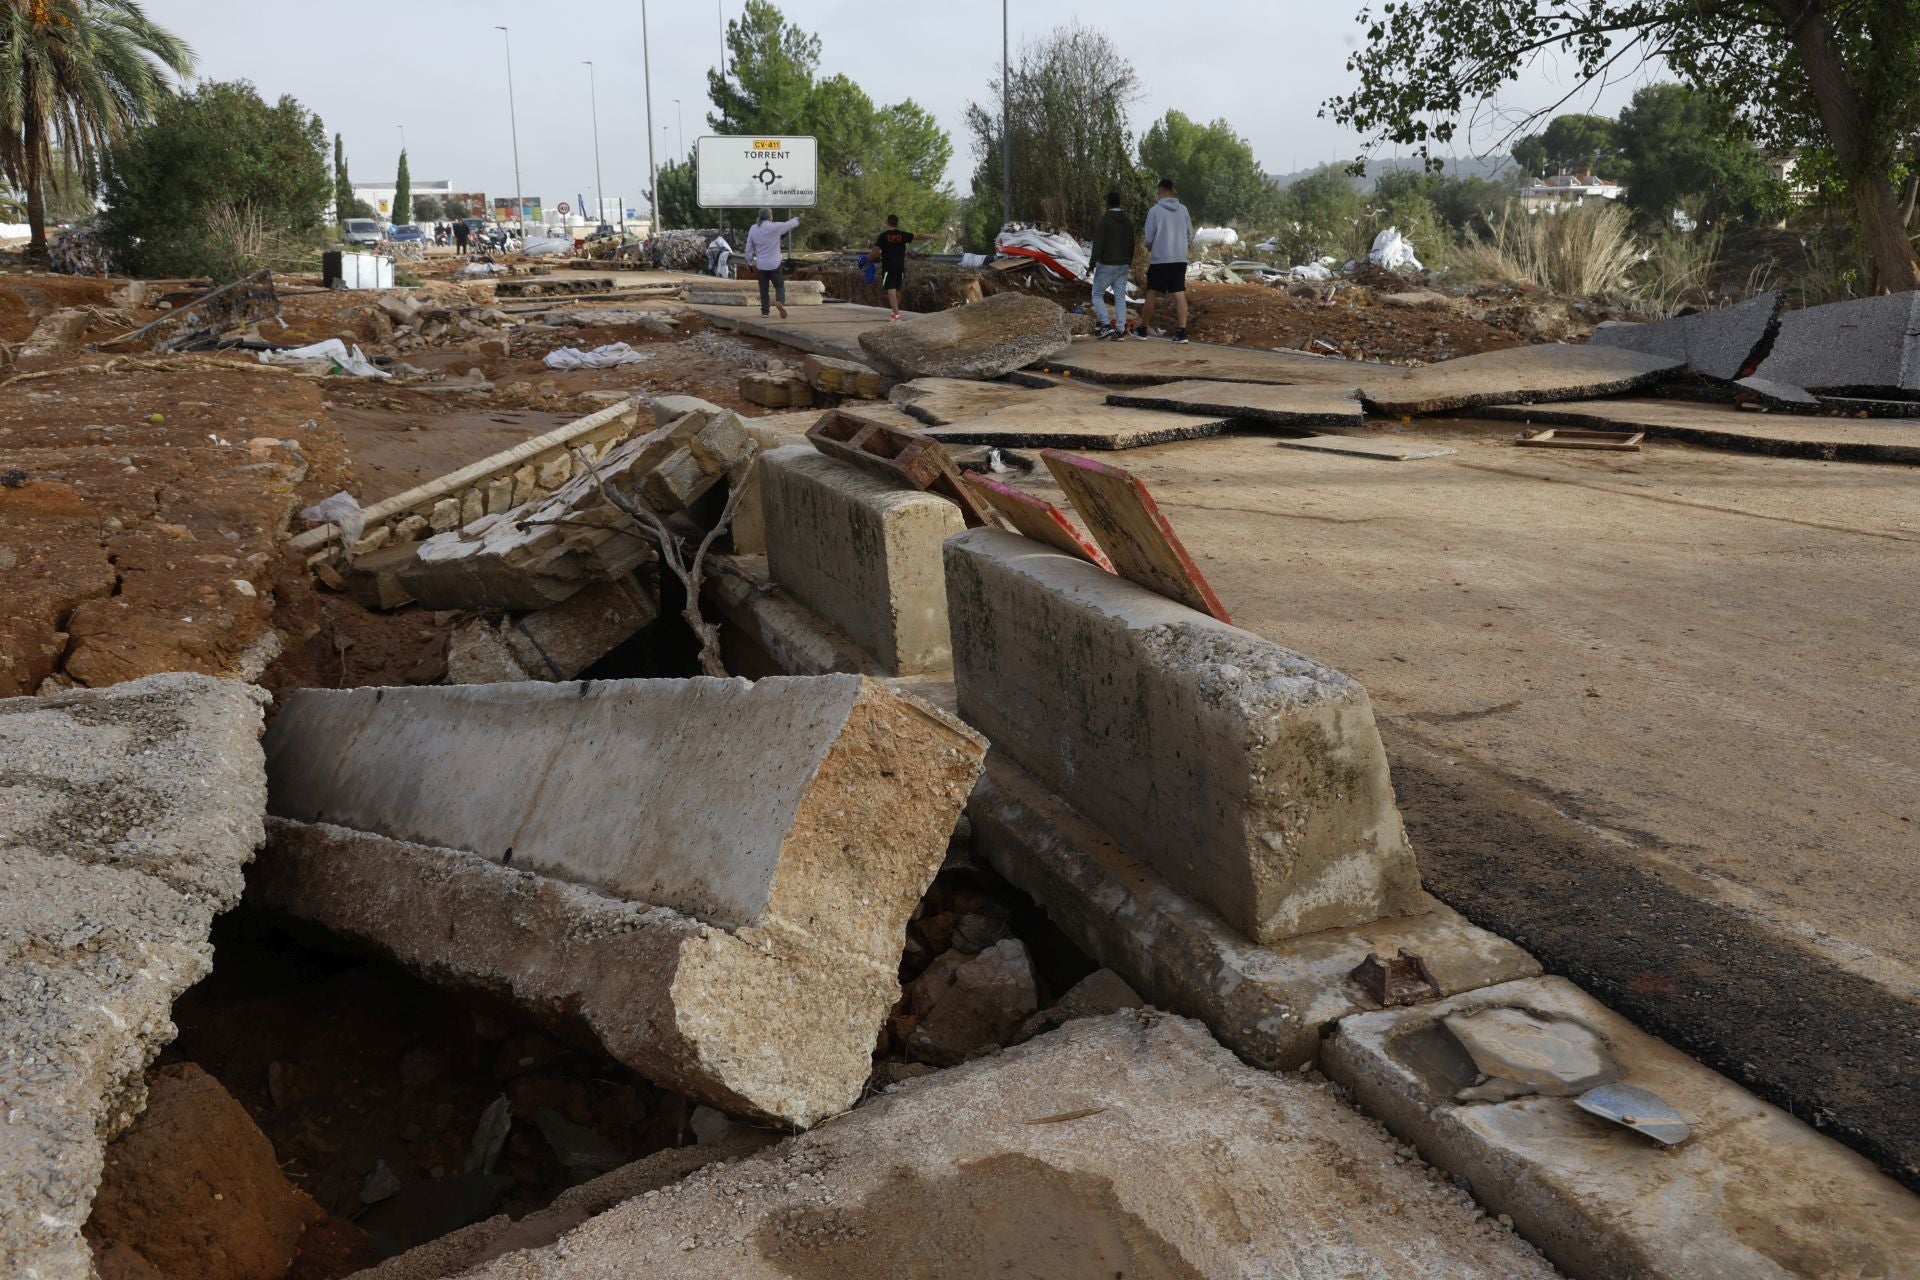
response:
[(1674, 355), (1617, 347), (1544, 344), (1482, 351), (1400, 374), (1359, 378), (1359, 395), (1373, 413), (1398, 418), (1478, 405), (1619, 395), (1686, 368)]

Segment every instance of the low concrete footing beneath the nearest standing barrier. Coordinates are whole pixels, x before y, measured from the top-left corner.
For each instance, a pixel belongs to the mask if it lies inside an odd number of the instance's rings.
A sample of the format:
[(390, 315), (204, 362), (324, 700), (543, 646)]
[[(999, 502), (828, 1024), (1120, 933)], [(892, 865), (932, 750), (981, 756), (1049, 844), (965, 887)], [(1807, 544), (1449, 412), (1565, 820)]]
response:
[(987, 758), (968, 819), (973, 852), (1081, 950), (1258, 1067), (1311, 1063), (1338, 1019), (1380, 1007), (1352, 977), (1375, 948), (1417, 954), (1444, 996), (1540, 973), (1513, 942), (1427, 898), (1419, 915), (1248, 942), (1002, 752)]

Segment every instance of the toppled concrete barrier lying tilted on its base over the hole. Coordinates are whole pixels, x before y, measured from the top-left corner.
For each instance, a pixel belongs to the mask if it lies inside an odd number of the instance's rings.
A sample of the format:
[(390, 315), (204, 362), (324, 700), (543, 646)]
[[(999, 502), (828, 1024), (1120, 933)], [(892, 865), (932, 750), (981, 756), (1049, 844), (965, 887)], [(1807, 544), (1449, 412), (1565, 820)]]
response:
[(301, 689), (267, 773), (280, 818), (891, 963), (983, 750), (856, 676)]

